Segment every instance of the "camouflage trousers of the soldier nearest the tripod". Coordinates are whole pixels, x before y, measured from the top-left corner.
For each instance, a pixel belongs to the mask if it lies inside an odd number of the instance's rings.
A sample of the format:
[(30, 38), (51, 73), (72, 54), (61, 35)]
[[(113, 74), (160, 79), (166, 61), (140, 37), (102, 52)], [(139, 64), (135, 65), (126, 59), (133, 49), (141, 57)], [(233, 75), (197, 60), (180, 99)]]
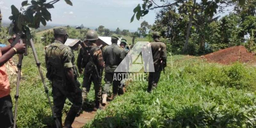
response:
[(63, 82), (62, 80), (53, 79), (51, 82), (54, 115), (57, 117), (57, 119), (59, 119), (59, 126), (61, 127), (61, 111), (64, 107), (66, 99), (68, 98), (72, 105), (65, 119), (64, 126), (71, 127), (71, 124), (75, 120), (76, 114), (82, 108), (82, 90), (77, 85), (74, 87)]

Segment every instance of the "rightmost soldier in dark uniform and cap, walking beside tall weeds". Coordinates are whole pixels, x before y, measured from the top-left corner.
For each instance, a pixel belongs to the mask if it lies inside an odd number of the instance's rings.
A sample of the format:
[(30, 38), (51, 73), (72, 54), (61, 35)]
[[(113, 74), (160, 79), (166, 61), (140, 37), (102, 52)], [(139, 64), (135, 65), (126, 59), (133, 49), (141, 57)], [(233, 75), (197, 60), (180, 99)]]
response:
[(148, 75), (148, 92), (151, 92), (152, 89), (157, 87), (161, 71), (166, 67), (166, 45), (163, 42), (159, 41), (160, 33), (154, 32), (153, 39), (154, 41), (150, 43), (155, 72), (149, 72)]

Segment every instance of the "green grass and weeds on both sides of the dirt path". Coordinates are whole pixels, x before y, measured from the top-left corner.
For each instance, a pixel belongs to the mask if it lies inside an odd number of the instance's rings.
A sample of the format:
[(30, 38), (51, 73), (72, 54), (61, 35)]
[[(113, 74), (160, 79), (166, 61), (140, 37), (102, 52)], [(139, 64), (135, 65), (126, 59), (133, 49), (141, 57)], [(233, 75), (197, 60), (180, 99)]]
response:
[[(36, 44), (45, 73), (43, 47)], [(98, 111), (95, 119), (84, 127), (255, 127), (255, 69), (248, 64), (223, 66), (199, 57), (169, 54), (166, 73), (161, 74), (156, 91), (146, 92), (147, 81), (130, 82), (127, 93), (110, 102), (106, 110)], [(31, 49), (24, 57), (22, 73), (18, 126), (53, 125)], [(82, 77), (79, 81), (82, 82)], [(49, 82), (47, 85), (51, 91)], [(14, 96), (15, 84), (11, 87)], [(92, 89), (88, 101), (93, 99)], [(13, 97), (12, 100), (14, 103)], [(63, 119), (69, 107), (67, 100)]]

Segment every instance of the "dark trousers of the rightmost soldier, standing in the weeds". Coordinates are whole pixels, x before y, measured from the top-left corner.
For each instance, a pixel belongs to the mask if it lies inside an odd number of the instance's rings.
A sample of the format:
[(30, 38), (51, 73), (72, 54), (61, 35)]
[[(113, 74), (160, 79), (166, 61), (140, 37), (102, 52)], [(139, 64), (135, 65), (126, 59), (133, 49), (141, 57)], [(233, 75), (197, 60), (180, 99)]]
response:
[(157, 87), (157, 83), (160, 79), (161, 71), (149, 72), (148, 75), (148, 92)]

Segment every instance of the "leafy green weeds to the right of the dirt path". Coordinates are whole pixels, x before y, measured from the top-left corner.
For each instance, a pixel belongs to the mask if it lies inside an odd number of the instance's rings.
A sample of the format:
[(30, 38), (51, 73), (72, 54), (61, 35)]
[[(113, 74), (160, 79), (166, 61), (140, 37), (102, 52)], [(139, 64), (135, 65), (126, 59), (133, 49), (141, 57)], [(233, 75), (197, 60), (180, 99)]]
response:
[(209, 64), (192, 56), (168, 59), (158, 87), (131, 82), (86, 128), (255, 127), (255, 67)]

